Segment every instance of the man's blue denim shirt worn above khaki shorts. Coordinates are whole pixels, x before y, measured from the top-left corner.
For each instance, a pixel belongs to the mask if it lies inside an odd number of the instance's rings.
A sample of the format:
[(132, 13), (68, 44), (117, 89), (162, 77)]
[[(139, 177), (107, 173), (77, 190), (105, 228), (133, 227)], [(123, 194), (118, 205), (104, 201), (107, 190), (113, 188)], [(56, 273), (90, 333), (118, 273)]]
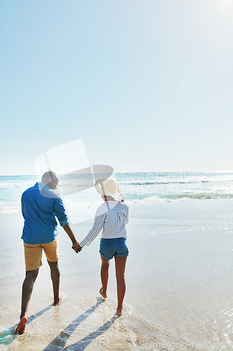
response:
[(36, 183), (22, 194), (23, 241), (46, 244), (57, 236), (57, 219), (62, 227), (69, 224), (62, 199), (45, 183)]

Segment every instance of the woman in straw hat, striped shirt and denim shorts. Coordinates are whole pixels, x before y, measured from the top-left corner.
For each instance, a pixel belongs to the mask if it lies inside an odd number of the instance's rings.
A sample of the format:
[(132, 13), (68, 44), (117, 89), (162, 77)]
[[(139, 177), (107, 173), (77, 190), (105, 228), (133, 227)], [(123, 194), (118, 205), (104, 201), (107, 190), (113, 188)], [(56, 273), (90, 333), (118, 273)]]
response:
[(124, 204), (118, 184), (113, 179), (100, 179), (95, 188), (101, 194), (104, 204), (97, 208), (92, 230), (83, 241), (73, 245), (78, 251), (85, 245), (90, 245), (102, 230), (99, 253), (101, 256), (101, 282), (99, 293), (107, 298), (108, 268), (111, 258), (115, 258), (115, 277), (118, 291), (117, 313), (122, 314), (122, 303), (125, 296), (125, 265), (129, 250), (127, 248), (126, 224), (128, 223), (129, 207)]

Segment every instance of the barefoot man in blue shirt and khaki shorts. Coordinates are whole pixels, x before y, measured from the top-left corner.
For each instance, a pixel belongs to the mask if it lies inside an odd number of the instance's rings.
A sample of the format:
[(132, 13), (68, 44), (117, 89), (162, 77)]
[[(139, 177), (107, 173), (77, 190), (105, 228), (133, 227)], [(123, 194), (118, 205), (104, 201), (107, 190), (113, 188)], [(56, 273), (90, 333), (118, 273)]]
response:
[[(22, 216), (24, 217), (24, 228), (22, 239), (24, 241), (24, 258), (26, 266), (26, 277), (22, 284), (22, 306), (20, 323), (17, 325), (16, 333), (24, 333), (27, 324), (27, 309), (34, 287), (34, 282), (41, 267), (42, 249), (50, 266), (52, 288), (54, 295), (53, 305), (59, 305), (59, 267), (58, 267), (58, 241), (57, 241), (57, 219), (64, 228), (76, 248), (78, 241), (74, 237), (68, 223), (64, 204), (58, 196), (57, 184), (59, 178), (56, 173), (48, 171), (43, 174), (41, 183), (29, 187), (22, 194)], [(76, 249), (76, 252), (80, 249)]]

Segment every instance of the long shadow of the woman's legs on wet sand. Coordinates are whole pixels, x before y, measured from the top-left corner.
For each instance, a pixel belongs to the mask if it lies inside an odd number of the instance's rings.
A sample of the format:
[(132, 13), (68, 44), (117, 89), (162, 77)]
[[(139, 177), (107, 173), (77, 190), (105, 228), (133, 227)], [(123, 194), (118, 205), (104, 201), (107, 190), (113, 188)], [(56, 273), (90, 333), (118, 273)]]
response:
[(97, 300), (97, 303), (95, 303), (92, 307), (90, 307), (88, 310), (83, 312), (83, 314), (80, 314), (80, 316), (78, 316), (76, 319), (74, 319), (73, 322), (71, 322), (69, 324), (69, 326), (66, 326), (66, 329), (61, 331), (61, 333), (59, 333), (59, 336), (57, 336), (54, 340), (52, 340), (52, 342), (48, 346), (46, 346), (45, 349), (43, 349), (43, 351), (83, 350), (83, 349), (85, 349), (85, 347), (87, 347), (87, 345), (89, 345), (92, 342), (92, 340), (94, 340), (95, 338), (100, 336), (102, 333), (106, 332), (111, 327), (111, 325), (115, 322), (115, 319), (117, 319), (118, 316), (114, 316), (108, 322), (106, 322), (103, 326), (100, 326), (95, 331), (92, 331), (92, 333), (85, 336), (85, 338), (78, 340), (77, 343), (75, 343), (73, 345), (69, 345), (66, 348), (64, 348), (66, 345), (66, 341), (69, 339), (69, 337), (71, 336), (73, 331), (75, 331), (76, 328), (78, 327), (78, 325), (81, 322), (83, 322), (85, 319), (87, 319), (87, 317), (89, 317), (90, 314), (92, 314), (92, 312), (94, 312), (94, 310), (102, 302), (103, 302), (102, 298), (99, 298)]

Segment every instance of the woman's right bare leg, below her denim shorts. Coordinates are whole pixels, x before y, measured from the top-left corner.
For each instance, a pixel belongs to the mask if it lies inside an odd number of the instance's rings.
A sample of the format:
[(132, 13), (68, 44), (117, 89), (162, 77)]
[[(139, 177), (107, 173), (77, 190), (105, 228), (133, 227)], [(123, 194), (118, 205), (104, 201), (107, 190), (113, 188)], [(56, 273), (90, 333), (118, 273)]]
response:
[(127, 257), (115, 256), (115, 277), (117, 280), (118, 289), (118, 308), (117, 312), (119, 315), (122, 314), (122, 304), (125, 296), (125, 265)]

